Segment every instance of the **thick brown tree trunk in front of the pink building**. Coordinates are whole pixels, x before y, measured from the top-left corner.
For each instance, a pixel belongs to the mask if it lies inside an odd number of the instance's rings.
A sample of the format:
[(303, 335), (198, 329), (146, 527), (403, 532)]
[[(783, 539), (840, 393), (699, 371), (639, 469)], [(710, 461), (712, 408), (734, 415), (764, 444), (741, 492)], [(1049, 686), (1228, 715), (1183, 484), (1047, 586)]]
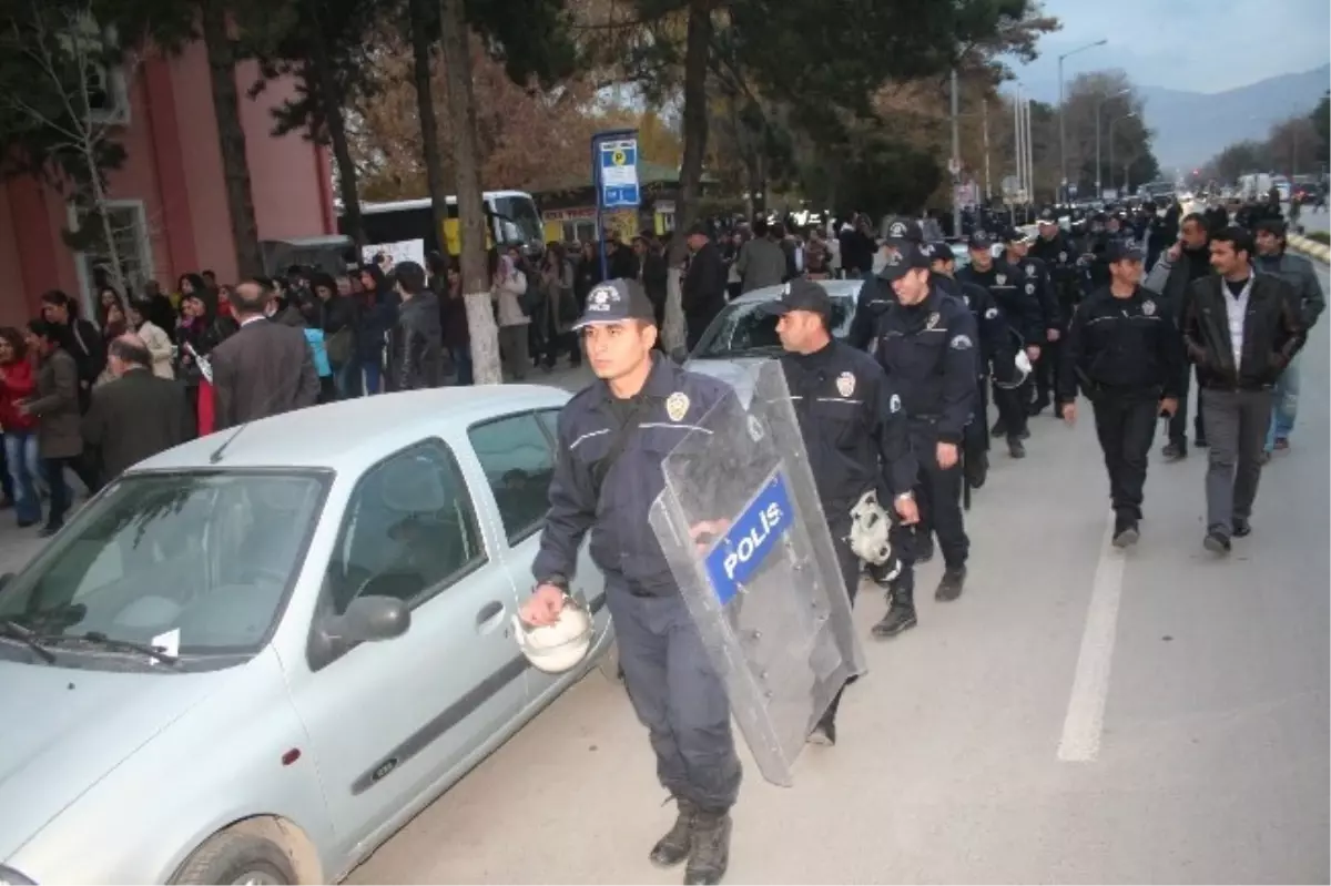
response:
[(213, 89), (213, 114), (217, 117), (217, 141), (222, 150), (226, 209), (232, 217), (232, 238), (236, 241), (236, 270), (240, 277), (261, 277), (264, 255), (258, 247), (258, 223), (254, 221), (254, 193), (250, 188), (245, 129), (241, 126), (240, 96), (236, 89), (236, 51), (226, 31), (226, 5), (222, 0), (204, 0), (200, 5)]

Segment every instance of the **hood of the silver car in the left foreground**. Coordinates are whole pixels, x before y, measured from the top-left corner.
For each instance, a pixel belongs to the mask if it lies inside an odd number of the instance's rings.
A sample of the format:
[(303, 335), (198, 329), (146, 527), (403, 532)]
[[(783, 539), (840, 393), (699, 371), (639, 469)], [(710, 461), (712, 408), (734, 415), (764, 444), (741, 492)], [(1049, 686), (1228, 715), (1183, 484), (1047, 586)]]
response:
[(230, 678), (0, 661), (0, 861)]

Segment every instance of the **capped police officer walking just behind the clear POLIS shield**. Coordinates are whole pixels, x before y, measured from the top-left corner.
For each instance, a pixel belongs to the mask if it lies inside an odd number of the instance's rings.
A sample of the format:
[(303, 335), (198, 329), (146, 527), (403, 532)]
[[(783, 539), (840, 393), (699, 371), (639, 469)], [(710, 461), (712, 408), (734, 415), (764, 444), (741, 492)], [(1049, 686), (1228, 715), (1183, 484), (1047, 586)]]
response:
[[(832, 338), (832, 299), (820, 283), (793, 279), (781, 298), (761, 310), (780, 317), (776, 333), (787, 351), (781, 369), (841, 579), (855, 603), (860, 557), (851, 547), (852, 508), (873, 491), (878, 502), (892, 503), (900, 525), (920, 517), (912, 492), (918, 468), (901, 398), (872, 357)], [(840, 702), (837, 693), (811, 741), (836, 744)]]

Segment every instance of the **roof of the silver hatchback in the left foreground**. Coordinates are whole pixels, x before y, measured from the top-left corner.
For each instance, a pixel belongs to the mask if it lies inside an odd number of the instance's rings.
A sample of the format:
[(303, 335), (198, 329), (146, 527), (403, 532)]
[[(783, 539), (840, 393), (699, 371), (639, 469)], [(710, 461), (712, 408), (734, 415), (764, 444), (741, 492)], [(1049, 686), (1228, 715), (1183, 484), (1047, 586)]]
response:
[[(132, 472), (186, 468), (325, 468), (361, 472), (427, 436), (523, 410), (559, 408), (568, 391), (543, 384), (483, 384), (379, 394), (311, 406), (182, 443)], [(234, 439), (233, 439), (234, 438)], [(232, 440), (214, 464), (210, 458)]]

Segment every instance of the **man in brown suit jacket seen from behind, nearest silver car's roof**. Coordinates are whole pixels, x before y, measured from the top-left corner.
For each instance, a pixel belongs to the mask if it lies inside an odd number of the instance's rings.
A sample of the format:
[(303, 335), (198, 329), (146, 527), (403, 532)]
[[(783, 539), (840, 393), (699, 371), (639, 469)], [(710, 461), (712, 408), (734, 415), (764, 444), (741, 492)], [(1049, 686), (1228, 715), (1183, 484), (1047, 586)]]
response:
[(273, 290), (248, 279), (232, 294), (240, 331), (213, 349), (214, 430), (314, 406), (319, 376), (301, 330), (273, 323)]

